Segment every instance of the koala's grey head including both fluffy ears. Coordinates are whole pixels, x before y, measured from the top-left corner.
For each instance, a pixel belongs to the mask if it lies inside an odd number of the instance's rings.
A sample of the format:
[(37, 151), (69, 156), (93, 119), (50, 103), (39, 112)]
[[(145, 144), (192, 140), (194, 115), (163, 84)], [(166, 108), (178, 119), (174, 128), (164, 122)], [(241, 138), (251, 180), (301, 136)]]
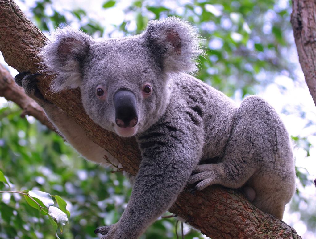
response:
[(145, 131), (164, 113), (172, 73), (196, 70), (197, 32), (178, 18), (150, 21), (141, 35), (94, 40), (69, 27), (58, 29), (41, 50), (55, 73), (51, 90), (80, 87), (87, 114), (123, 137)]

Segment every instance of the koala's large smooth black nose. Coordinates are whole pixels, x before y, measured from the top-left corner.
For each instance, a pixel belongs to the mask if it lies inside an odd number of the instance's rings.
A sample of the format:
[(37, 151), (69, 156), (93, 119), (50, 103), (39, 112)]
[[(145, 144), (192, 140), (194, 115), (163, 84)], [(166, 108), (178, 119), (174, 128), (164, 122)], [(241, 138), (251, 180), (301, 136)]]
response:
[(137, 125), (136, 97), (129, 90), (118, 90), (114, 95), (115, 123), (121, 128)]

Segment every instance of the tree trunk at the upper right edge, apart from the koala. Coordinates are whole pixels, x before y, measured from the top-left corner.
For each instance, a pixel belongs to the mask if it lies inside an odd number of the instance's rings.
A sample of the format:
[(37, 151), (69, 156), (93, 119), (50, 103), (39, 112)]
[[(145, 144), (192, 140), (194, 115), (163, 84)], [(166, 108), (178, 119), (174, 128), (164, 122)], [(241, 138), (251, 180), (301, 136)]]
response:
[(293, 0), (291, 23), (305, 81), (316, 105), (316, 1)]

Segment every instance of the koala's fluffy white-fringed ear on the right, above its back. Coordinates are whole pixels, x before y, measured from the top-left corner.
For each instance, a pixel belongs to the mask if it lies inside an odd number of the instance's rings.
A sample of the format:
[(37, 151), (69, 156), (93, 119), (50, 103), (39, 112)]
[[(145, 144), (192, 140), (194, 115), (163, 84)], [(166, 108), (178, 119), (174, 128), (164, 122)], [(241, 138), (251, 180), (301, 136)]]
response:
[(203, 53), (198, 35), (189, 23), (176, 17), (150, 21), (145, 32), (149, 48), (164, 72), (197, 70), (197, 56)]

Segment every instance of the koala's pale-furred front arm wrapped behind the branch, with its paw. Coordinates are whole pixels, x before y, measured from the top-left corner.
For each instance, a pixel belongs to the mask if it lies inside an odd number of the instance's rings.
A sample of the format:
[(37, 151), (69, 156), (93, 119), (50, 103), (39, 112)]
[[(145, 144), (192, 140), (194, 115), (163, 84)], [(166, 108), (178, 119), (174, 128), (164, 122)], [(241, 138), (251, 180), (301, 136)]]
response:
[(59, 107), (44, 99), (36, 86), (36, 78), (40, 74), (28, 72), (19, 73), (15, 76), (15, 82), (22, 86), (25, 93), (35, 100), (45, 111), (47, 117), (56, 126), (60, 134), (80, 153), (83, 157), (96, 163), (106, 164), (104, 155), (114, 164), (118, 161), (105, 149), (92, 142), (82, 128), (68, 114)]

